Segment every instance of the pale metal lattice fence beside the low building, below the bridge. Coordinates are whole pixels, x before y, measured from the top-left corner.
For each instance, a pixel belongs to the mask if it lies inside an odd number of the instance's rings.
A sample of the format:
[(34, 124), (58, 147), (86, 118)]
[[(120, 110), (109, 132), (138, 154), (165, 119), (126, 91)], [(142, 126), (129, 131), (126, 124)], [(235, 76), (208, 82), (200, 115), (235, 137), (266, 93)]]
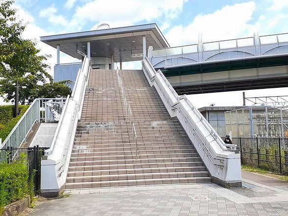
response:
[(225, 112), (232, 137), (276, 138), (288, 134), (288, 107), (247, 107)]

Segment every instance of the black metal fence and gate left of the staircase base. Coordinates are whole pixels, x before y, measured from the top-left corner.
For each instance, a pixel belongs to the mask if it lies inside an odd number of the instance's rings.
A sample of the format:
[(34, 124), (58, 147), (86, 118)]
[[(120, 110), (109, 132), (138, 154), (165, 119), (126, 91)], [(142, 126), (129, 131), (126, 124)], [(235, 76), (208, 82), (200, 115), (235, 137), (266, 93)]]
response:
[(41, 183), (41, 158), (46, 149), (48, 148), (39, 148), (38, 145), (32, 148), (7, 147), (6, 149), (0, 149), (0, 163), (28, 162), (29, 178), (32, 176), (33, 170), (35, 170), (34, 185), (35, 192), (38, 193)]

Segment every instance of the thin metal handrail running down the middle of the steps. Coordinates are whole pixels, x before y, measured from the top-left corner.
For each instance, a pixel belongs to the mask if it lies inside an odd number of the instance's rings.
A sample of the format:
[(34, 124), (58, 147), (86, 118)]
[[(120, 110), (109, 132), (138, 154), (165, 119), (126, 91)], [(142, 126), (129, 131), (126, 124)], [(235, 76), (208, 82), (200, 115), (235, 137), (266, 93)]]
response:
[(117, 67), (116, 69), (116, 74), (117, 74), (117, 79), (118, 79), (118, 83), (119, 83), (119, 87), (121, 88), (121, 94), (123, 97), (123, 102), (124, 102), (124, 109), (125, 109), (125, 113), (126, 113), (126, 119), (130, 122), (130, 132), (132, 135), (132, 143), (134, 143), (134, 137), (135, 137), (135, 158), (137, 159), (137, 151), (138, 151), (138, 147), (137, 147), (137, 135), (136, 135), (136, 130), (135, 130), (135, 126), (132, 120), (132, 111), (131, 111), (131, 106), (130, 104), (127, 102), (127, 98), (125, 95), (125, 90), (124, 90), (124, 85), (123, 85), (123, 80), (119, 75), (119, 69)]

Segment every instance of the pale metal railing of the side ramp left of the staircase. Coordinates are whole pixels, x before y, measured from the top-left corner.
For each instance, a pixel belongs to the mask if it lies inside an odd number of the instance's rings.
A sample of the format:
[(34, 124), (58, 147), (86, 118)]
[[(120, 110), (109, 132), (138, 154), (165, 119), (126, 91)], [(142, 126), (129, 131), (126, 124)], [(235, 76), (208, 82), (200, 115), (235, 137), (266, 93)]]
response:
[(20, 148), (36, 122), (58, 121), (64, 104), (65, 99), (63, 98), (35, 99), (3, 143), (0, 144), (0, 149), (7, 147)]

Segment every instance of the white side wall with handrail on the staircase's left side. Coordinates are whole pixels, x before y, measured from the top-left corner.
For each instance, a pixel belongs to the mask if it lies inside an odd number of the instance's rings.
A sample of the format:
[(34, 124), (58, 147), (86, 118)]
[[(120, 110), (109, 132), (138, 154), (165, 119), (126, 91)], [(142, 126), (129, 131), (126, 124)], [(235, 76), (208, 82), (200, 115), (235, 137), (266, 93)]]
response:
[(43, 193), (54, 192), (57, 195), (65, 185), (77, 123), (82, 112), (89, 71), (90, 61), (85, 56), (71, 97), (67, 97), (51, 148), (45, 151), (45, 157), (41, 162), (41, 191)]

